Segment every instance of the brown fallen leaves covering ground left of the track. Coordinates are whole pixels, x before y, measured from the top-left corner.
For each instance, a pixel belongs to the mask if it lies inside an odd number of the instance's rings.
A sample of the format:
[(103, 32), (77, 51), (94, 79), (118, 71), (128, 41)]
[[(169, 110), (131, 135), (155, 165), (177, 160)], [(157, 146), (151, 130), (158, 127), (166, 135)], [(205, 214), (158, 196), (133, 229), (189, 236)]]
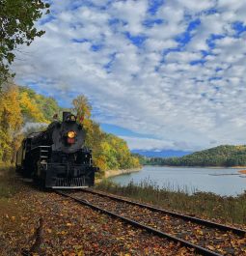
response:
[[(0, 212), (0, 255), (195, 255), (53, 192), (23, 186)], [(11, 210), (11, 211), (10, 211)]]

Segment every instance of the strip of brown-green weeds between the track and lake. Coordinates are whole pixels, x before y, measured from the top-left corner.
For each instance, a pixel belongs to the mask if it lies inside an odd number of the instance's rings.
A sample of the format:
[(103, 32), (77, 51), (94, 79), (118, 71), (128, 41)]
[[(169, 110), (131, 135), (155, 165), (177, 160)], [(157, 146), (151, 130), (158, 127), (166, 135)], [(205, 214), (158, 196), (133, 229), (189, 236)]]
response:
[(148, 180), (140, 184), (131, 182), (128, 185), (103, 180), (96, 188), (179, 213), (246, 224), (246, 191), (237, 197), (220, 196), (211, 192), (194, 192), (190, 195), (185, 188), (173, 191), (169, 186), (160, 188)]

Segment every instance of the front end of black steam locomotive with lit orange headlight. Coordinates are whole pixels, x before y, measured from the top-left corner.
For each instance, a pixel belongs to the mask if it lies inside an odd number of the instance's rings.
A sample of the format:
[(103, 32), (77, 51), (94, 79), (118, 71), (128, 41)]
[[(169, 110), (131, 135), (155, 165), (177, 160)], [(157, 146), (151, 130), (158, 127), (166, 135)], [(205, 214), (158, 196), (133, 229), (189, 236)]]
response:
[(92, 151), (83, 147), (85, 130), (76, 123), (76, 117), (64, 112), (63, 122), (56, 124), (52, 132), (50, 161), (45, 186), (52, 188), (76, 188), (95, 184), (96, 167)]

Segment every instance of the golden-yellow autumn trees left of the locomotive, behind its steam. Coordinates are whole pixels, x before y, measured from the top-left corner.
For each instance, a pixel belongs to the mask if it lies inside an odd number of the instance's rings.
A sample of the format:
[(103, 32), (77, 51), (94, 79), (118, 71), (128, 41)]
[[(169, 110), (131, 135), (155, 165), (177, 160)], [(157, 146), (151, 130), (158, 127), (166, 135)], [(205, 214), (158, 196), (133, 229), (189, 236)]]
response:
[(0, 162), (14, 162), (15, 152), (25, 132), (37, 127), (33, 125), (23, 129), (25, 125), (49, 123), (51, 113), (59, 106), (52, 98), (44, 98), (33, 90), (10, 83), (3, 85), (0, 102)]

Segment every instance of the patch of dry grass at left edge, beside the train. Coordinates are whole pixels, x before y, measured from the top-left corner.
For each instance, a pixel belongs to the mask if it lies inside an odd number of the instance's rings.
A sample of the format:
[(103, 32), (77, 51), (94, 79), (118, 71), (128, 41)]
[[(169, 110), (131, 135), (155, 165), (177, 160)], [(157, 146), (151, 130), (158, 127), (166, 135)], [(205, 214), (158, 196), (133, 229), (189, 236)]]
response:
[(0, 165), (0, 198), (8, 198), (17, 192), (15, 170), (12, 165)]

